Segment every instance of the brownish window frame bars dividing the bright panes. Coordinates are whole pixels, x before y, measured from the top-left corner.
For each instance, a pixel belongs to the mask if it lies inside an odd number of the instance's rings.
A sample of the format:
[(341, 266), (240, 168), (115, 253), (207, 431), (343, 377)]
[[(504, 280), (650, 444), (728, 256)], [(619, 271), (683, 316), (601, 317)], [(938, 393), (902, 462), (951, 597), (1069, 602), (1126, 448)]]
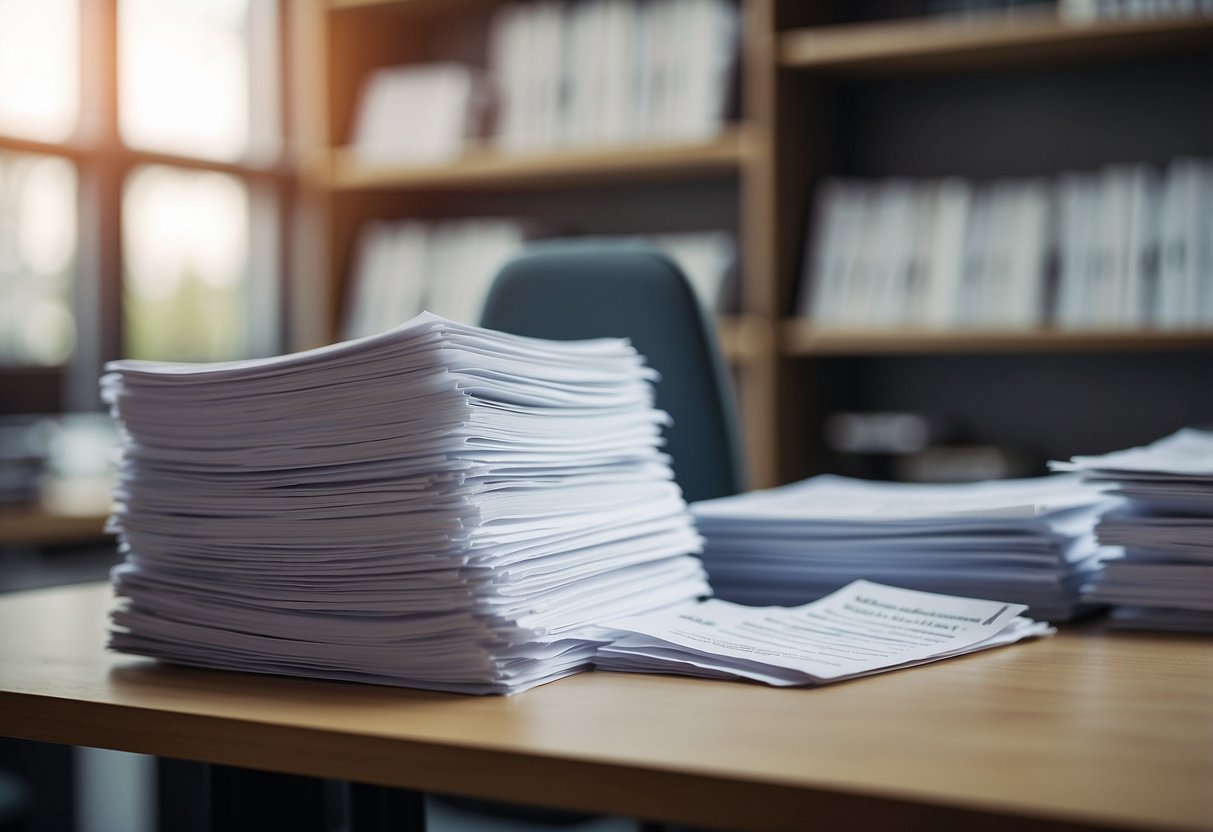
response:
[[(143, 165), (166, 165), (189, 171), (228, 173), (244, 182), (254, 205), (272, 205), (273, 221), (267, 234), (254, 237), (250, 268), (277, 264), (273, 291), (277, 297), (278, 352), (291, 342), (290, 298), (285, 275), (294, 267), (300, 199), (296, 125), (294, 121), (290, 33), (292, 16), (300, 13), (291, 0), (273, 4), (275, 120), (280, 133), (278, 152), (260, 160), (252, 148), (249, 161), (216, 161), (194, 156), (144, 150), (127, 146), (119, 130), (119, 0), (75, 0), (80, 15), (80, 110), (76, 130), (63, 142), (44, 142), (0, 132), (0, 152), (32, 153), (70, 161), (79, 183), (76, 199), (76, 256), (74, 266), (73, 313), (76, 344), (63, 365), (0, 365), (0, 411), (63, 412), (101, 408), (97, 380), (106, 361), (121, 358), (123, 314), (123, 188), (127, 177)], [(257, 50), (250, 42), (250, 52)], [(250, 55), (250, 82), (254, 95), (262, 84), (254, 78), (263, 58)], [(256, 127), (252, 135), (257, 135)], [(56, 394), (51, 394), (55, 392)]]

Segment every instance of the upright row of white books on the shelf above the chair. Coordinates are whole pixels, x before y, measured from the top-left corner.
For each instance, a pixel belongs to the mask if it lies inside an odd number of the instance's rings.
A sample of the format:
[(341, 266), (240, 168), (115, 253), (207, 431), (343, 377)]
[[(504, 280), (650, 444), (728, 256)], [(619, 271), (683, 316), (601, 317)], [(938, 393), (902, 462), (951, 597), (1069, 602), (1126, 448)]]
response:
[(489, 32), (507, 153), (706, 139), (729, 118), (738, 10), (727, 0), (508, 4)]

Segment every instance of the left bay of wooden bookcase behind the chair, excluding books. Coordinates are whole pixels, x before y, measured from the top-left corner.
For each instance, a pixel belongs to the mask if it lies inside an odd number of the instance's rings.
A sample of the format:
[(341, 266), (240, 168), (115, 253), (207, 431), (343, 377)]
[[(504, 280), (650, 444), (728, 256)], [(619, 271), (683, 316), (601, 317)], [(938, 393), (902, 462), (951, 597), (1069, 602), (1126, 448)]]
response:
[[(748, 68), (773, 67), (770, 49), (756, 38), (763, 30), (748, 19), (763, 13), (744, 0), (740, 114), (717, 136), (668, 143), (630, 142), (542, 153), (503, 153), (489, 143), (472, 146), (457, 159), (433, 165), (366, 165), (349, 147), (357, 97), (365, 78), (378, 67), (432, 59), (483, 63), (489, 39), (486, 22), (505, 4), (495, 0), (315, 0), (309, 19), (296, 38), (309, 75), (304, 89), (320, 91), (307, 103), (312, 137), (303, 153), (304, 179), (315, 205), (318, 233), (311, 260), (324, 266), (312, 278), (313, 303), (303, 309), (318, 325), (312, 341), (335, 337), (344, 285), (354, 256), (358, 228), (377, 218), (451, 218), (497, 213), (501, 205), (522, 205), (541, 218), (545, 213), (586, 215), (586, 233), (631, 234), (682, 232), (706, 227), (704, 217), (739, 238), (742, 274), (753, 272), (751, 247), (741, 226), (748, 224), (744, 203), (752, 201), (750, 182), (762, 165), (768, 135), (751, 118)], [(306, 59), (306, 56), (319, 59)], [(637, 196), (650, 206), (631, 220)], [(600, 210), (581, 209), (602, 203)], [(685, 206), (694, 204), (694, 210)], [(571, 207), (570, 207), (571, 206)], [(685, 217), (683, 215), (687, 215)], [(623, 217), (623, 220), (620, 220)], [(659, 227), (645, 223), (657, 222)], [(753, 292), (744, 280), (741, 294)], [(301, 327), (306, 330), (307, 327)], [(717, 332), (722, 352), (733, 367), (747, 456), (754, 483), (771, 483), (775, 437), (771, 422), (771, 383), (776, 354), (771, 315), (754, 312), (742, 297), (739, 308), (721, 314)]]

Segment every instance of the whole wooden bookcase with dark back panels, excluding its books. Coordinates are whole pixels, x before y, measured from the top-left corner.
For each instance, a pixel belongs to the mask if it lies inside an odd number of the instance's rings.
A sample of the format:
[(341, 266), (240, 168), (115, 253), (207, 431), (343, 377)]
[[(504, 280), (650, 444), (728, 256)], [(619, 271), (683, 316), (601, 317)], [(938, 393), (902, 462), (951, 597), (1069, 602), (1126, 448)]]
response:
[[(852, 4), (739, 2), (740, 113), (716, 138), (528, 155), (483, 147), (440, 165), (374, 167), (347, 147), (361, 81), (382, 65), (483, 52), (485, 21), (502, 4), (313, 0), (297, 39), (309, 57), (303, 89), (319, 91), (300, 108), (319, 209), (312, 260), (324, 272), (303, 309), (319, 321), (313, 342), (336, 332), (343, 275), (368, 220), (457, 217), (511, 200), (540, 212), (604, 203), (606, 216), (647, 203), (637, 222), (706, 210), (738, 234), (739, 308), (718, 332), (753, 486), (833, 467), (821, 437), (837, 409), (959, 399), (962, 420), (993, 414), (991, 431), (974, 440), (1021, 444), (1035, 431), (1048, 434), (1035, 443), (1046, 455), (1137, 444), (1213, 415), (1213, 332), (839, 330), (792, 312), (811, 194), (824, 177), (987, 179), (1213, 158), (1213, 19), (1070, 21), (1035, 11), (856, 21), (864, 12)], [(896, 381), (902, 367), (922, 389), (906, 393), (910, 382)], [(1012, 382), (972, 383), (985, 375)], [(1024, 382), (1037, 375), (1038, 389)], [(1023, 429), (998, 418), (1004, 395), (1025, 394), (1060, 397), (1040, 405), (1055, 433), (1023, 403), (1009, 408)], [(1157, 403), (1152, 421), (1083, 428), (1082, 420), (1143, 400)]]

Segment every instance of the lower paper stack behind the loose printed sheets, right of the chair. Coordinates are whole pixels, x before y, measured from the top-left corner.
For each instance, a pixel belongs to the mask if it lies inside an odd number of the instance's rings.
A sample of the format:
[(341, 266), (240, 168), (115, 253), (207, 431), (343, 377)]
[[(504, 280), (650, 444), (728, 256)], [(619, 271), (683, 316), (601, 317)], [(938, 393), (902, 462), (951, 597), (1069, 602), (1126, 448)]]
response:
[(822, 475), (695, 503), (716, 594), (803, 604), (856, 579), (1077, 612), (1103, 500), (1077, 477), (966, 485)]

